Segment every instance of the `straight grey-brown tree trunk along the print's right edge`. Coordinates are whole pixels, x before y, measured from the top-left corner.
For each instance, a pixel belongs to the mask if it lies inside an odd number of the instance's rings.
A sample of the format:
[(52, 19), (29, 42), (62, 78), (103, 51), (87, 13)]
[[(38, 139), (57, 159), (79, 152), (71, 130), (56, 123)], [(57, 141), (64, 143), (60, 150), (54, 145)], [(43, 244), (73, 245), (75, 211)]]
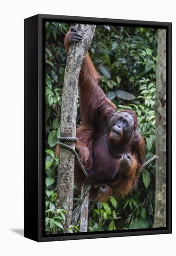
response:
[(166, 227), (166, 29), (159, 29), (158, 31), (154, 227)]

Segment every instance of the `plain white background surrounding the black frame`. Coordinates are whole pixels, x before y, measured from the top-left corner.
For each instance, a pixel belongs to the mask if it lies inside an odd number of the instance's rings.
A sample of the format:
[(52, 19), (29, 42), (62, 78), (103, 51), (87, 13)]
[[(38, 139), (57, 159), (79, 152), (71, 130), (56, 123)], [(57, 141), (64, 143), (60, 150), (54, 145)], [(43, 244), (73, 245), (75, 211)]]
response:
[[(173, 22), (173, 113), (176, 107), (174, 0), (5, 0), (0, 3), (0, 254), (175, 255), (176, 157), (173, 155), (173, 234), (37, 243), (23, 229), (23, 19), (38, 13)], [(173, 139), (176, 145), (175, 118)], [(161, 138), (162, 139), (162, 138)], [(173, 143), (174, 144), (174, 143)], [(175, 153), (175, 145), (173, 153)], [(33, 188), (33, 185), (31, 185)], [(33, 210), (33, 209), (31, 209)], [(35, 229), (35, 227), (33, 227)], [(20, 233), (20, 234), (19, 234)]]

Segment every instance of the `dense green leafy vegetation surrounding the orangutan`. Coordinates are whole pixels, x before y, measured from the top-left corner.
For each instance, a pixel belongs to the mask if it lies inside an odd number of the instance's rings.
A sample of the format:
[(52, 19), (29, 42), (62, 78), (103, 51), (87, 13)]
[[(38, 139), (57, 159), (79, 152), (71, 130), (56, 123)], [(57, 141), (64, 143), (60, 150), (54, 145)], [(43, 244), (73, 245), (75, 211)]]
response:
[[(46, 234), (62, 230), (65, 221), (64, 209), (55, 210), (58, 158), (54, 149), (60, 134), (66, 62), (63, 40), (68, 28), (65, 23), (46, 22)], [(97, 26), (89, 53), (101, 75), (100, 86), (106, 96), (117, 109), (132, 109), (137, 113), (138, 130), (146, 141), (146, 160), (150, 159), (155, 155), (157, 30)], [(78, 103), (77, 125), (80, 124)], [(155, 171), (155, 162), (143, 169), (138, 189), (124, 199), (90, 201), (88, 230), (152, 227)], [(78, 232), (78, 228), (70, 227), (69, 231)]]

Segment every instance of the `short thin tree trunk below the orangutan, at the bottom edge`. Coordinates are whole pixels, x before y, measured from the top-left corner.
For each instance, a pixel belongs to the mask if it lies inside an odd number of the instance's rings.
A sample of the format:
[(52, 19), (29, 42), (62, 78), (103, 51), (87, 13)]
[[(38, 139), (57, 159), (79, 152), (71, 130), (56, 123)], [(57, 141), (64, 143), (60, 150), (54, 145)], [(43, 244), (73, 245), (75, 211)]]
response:
[[(81, 194), (85, 192), (85, 185), (82, 186)], [(87, 232), (89, 210), (89, 193), (85, 196), (85, 201), (81, 206), (80, 232)]]

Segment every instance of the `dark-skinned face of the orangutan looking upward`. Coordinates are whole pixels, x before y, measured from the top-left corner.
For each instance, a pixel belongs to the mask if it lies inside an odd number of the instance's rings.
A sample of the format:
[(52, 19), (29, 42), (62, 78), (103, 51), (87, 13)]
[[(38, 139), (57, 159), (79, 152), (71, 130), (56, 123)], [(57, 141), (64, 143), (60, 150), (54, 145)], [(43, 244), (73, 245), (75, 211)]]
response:
[(127, 112), (119, 112), (112, 118), (109, 127), (109, 147), (112, 153), (120, 152), (120, 149), (123, 152), (130, 141), (133, 128), (133, 117)]

